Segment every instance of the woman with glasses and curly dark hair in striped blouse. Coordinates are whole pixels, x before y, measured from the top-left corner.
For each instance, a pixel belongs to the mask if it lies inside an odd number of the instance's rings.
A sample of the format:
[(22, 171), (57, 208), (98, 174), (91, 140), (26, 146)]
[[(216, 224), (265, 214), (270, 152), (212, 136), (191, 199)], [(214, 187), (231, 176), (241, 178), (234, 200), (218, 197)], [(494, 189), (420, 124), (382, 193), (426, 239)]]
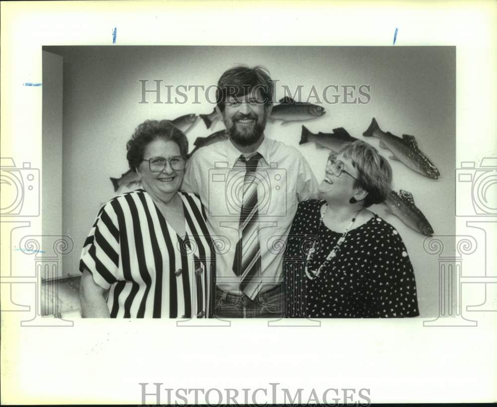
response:
[(147, 120), (127, 150), (143, 188), (105, 204), (84, 242), (83, 317), (208, 318), (213, 245), (199, 198), (178, 192), (186, 136), (167, 120)]

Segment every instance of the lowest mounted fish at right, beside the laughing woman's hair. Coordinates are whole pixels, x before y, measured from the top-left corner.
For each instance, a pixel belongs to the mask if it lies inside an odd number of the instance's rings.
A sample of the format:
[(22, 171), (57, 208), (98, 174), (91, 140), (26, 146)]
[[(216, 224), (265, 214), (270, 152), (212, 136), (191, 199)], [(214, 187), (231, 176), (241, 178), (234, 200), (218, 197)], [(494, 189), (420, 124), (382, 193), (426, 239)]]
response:
[(424, 235), (433, 235), (433, 228), (423, 213), (414, 205), (413, 194), (408, 191), (400, 190), (399, 193), (390, 191), (387, 199), (386, 212), (397, 216), (404, 224), (414, 229), (416, 232)]

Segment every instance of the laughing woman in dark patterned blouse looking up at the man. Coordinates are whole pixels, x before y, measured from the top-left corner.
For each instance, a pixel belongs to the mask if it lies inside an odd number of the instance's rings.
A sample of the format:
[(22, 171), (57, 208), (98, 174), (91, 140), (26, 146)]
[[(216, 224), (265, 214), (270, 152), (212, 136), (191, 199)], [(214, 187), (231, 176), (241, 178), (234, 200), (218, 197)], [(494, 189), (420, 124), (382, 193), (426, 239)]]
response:
[(414, 271), (395, 228), (369, 211), (392, 169), (362, 141), (331, 154), (319, 200), (299, 205), (284, 256), (286, 316), (415, 317)]

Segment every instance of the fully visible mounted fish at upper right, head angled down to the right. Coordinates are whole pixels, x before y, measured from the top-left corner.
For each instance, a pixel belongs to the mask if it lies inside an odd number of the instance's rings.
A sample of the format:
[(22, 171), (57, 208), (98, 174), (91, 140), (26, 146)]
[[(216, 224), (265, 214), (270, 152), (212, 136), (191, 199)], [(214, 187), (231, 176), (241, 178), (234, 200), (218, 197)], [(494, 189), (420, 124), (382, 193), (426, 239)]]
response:
[(436, 166), (419, 150), (414, 136), (403, 134), (401, 139), (390, 132), (385, 133), (380, 129), (374, 117), (362, 135), (364, 137), (378, 137), (380, 147), (389, 149), (393, 153), (393, 156), (390, 157), (392, 160), (398, 160), (428, 178), (436, 179), (440, 176)]

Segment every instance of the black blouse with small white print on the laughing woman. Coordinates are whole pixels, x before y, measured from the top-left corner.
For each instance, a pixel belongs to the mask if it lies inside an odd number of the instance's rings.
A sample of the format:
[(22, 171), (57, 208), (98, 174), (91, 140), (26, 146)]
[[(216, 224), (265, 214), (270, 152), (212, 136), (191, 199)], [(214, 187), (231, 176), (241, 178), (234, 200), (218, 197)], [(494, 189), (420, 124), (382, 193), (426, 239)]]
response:
[[(342, 236), (321, 222), (325, 201), (301, 202), (283, 259), (285, 314), (290, 318), (399, 318), (419, 315), (414, 270), (397, 230), (374, 215), (351, 229), (317, 276)], [(309, 261), (312, 240), (320, 247)], [(304, 241), (307, 240), (307, 243)], [(312, 280), (306, 277), (307, 262)]]

